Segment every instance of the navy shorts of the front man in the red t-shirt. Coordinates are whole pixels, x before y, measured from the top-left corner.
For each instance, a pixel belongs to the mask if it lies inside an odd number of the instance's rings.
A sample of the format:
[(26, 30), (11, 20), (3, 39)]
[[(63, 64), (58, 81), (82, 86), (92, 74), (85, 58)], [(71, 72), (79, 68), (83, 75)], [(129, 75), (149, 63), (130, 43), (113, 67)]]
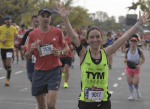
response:
[(32, 78), (32, 96), (48, 93), (48, 90), (59, 90), (61, 83), (61, 68), (49, 71), (34, 70)]

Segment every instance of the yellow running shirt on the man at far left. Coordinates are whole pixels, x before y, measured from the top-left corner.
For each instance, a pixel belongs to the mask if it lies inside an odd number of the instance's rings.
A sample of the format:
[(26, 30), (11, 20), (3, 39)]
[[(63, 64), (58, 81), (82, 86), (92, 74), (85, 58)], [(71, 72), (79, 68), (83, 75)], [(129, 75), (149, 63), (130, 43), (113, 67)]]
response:
[(4, 40), (7, 38), (5, 44), (0, 42), (0, 47), (3, 49), (14, 48), (14, 34), (18, 34), (16, 27), (11, 25), (9, 28), (6, 25), (2, 25), (0, 27), (0, 40)]

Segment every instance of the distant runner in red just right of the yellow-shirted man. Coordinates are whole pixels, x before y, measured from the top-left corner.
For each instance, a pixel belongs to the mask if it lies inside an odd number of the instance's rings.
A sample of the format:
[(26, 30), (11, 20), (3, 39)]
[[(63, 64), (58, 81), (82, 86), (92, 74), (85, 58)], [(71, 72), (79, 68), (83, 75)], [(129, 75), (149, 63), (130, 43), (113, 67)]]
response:
[(19, 54), (18, 51), (20, 52), (21, 55), (21, 59), (22, 59), (22, 66), (25, 66), (25, 59), (24, 59), (24, 50), (21, 50), (20, 48), (18, 48), (18, 45), (21, 43), (22, 38), (24, 36), (24, 34), (26, 33), (26, 26), (24, 24), (21, 25), (21, 30), (19, 30), (18, 34), (19, 34), (19, 38), (16, 39), (14, 41), (14, 45), (15, 45), (15, 51), (16, 51), (16, 57), (17, 57), (17, 64), (19, 62)]

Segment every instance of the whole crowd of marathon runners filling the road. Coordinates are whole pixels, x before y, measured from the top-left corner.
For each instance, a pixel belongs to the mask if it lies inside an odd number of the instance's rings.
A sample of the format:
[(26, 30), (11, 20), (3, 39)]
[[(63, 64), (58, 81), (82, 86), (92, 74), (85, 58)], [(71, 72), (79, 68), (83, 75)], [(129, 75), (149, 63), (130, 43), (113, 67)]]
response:
[(150, 36), (138, 30), (149, 21), (147, 12), (139, 13), (139, 21), (128, 31), (102, 31), (92, 25), (75, 30), (68, 20), (70, 8), (65, 9), (63, 3), (57, 3), (56, 7), (55, 11), (63, 19), (56, 27), (49, 25), (51, 12), (47, 8), (31, 16), (32, 28), (24, 24), (19, 28), (15, 23), (12, 25), (10, 16), (4, 18), (5, 24), (0, 27), (0, 47), (7, 72), (5, 85), (10, 85), (11, 63), (15, 60), (19, 63), (20, 53), (22, 66), (27, 66), (37, 109), (56, 109), (61, 78), (64, 88), (69, 88), (70, 67), (74, 68), (77, 54), (82, 83), (79, 109), (111, 109), (108, 72), (113, 68), (113, 54), (118, 50), (126, 63), (128, 99), (134, 100), (134, 88), (140, 98), (140, 66), (145, 61), (142, 49), (148, 45), (150, 50)]

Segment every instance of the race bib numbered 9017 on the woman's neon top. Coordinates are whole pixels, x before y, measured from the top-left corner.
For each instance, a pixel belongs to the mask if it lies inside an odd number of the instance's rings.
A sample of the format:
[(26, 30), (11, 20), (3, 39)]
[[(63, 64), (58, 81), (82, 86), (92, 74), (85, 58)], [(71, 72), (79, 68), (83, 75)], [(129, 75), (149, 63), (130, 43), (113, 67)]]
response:
[(97, 88), (96, 85), (93, 85), (92, 88), (85, 87), (84, 97), (94, 102), (101, 102), (104, 98), (104, 89)]

